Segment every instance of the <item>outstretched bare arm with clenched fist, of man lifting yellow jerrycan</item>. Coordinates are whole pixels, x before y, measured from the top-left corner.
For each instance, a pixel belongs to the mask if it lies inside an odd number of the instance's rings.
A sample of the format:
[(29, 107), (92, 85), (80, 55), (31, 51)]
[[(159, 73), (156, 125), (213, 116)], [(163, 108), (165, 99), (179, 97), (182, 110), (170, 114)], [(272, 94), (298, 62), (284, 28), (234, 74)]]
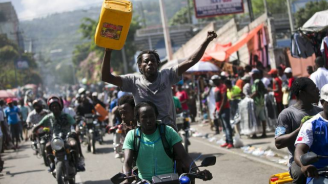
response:
[(186, 61), (183, 61), (179, 64), (179, 76), (185, 73), (189, 68), (191, 68), (201, 59), (209, 43), (216, 37), (217, 35), (214, 31), (208, 32), (206, 40), (200, 45), (200, 47), (195, 51), (195, 53), (190, 56)]

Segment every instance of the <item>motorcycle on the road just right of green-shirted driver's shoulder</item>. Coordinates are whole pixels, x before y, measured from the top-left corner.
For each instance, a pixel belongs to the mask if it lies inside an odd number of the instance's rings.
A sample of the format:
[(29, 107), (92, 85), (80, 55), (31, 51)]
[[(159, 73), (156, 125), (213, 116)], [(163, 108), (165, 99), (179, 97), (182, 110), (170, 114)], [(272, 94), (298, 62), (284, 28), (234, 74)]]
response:
[(177, 114), (176, 125), (178, 128), (178, 133), (182, 138), (182, 145), (185, 147), (185, 150), (188, 153), (188, 146), (190, 145), (189, 136), (191, 135), (191, 132), (190, 118), (187, 112)]

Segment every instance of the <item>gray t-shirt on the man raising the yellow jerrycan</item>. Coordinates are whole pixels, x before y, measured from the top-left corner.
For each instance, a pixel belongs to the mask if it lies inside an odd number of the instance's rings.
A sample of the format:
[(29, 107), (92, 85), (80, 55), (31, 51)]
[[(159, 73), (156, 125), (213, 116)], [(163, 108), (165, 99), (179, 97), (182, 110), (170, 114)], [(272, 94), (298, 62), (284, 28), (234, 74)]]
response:
[(176, 126), (171, 86), (182, 79), (178, 76), (178, 65), (158, 72), (154, 82), (149, 82), (142, 75), (124, 75), (121, 79), (123, 83), (121, 90), (132, 93), (136, 105), (142, 101), (153, 102), (159, 112), (157, 119), (165, 124)]

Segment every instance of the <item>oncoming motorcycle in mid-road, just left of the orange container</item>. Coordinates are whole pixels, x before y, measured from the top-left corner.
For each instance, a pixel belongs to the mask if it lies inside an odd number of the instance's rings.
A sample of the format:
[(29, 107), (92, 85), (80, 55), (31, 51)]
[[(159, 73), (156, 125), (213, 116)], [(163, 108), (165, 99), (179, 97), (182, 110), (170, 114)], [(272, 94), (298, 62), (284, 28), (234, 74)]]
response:
[(96, 153), (96, 141), (99, 144), (103, 144), (105, 135), (104, 128), (101, 128), (100, 123), (97, 120), (97, 116), (94, 114), (85, 114), (84, 117), (77, 117), (79, 119), (79, 132), (81, 143), (88, 145), (88, 151), (93, 154)]

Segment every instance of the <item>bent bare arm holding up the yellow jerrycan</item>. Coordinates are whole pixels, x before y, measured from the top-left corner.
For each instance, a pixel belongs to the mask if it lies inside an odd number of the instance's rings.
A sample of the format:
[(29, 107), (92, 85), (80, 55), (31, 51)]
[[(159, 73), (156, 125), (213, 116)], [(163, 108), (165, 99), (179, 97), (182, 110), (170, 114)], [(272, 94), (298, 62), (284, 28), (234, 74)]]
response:
[(122, 86), (122, 79), (120, 76), (111, 73), (111, 49), (105, 49), (103, 63), (101, 63), (101, 80), (116, 86)]

